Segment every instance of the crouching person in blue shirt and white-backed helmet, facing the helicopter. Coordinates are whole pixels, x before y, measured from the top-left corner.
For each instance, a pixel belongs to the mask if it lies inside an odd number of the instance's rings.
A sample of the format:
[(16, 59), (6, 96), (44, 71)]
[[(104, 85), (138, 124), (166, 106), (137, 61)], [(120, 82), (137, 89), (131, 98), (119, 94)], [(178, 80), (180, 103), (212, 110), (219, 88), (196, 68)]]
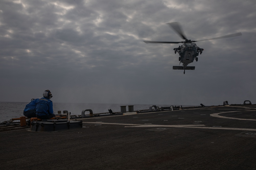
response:
[(42, 98), (36, 102), (36, 117), (42, 120), (47, 120), (55, 116), (52, 108), (52, 94), (50, 90), (45, 90)]

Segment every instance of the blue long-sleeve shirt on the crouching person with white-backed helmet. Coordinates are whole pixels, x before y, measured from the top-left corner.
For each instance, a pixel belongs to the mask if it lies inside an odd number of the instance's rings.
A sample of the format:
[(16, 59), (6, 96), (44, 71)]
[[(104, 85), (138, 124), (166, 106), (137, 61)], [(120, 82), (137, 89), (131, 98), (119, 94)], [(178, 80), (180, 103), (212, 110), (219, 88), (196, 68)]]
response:
[(53, 114), (52, 101), (42, 97), (36, 102), (36, 114), (39, 116)]

